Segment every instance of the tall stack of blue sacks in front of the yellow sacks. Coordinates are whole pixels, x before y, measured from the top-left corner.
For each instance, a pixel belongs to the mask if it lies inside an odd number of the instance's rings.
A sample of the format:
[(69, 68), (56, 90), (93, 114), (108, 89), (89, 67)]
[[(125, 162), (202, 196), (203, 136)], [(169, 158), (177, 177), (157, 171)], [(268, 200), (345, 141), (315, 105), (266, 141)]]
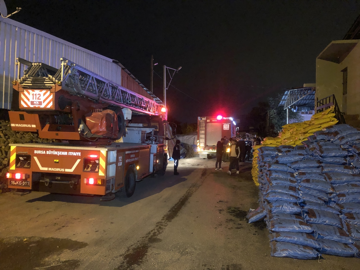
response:
[(356, 129), (337, 125), (302, 146), (258, 149), (260, 207), (248, 219), (265, 218), (272, 256), (359, 257), (359, 139)]

